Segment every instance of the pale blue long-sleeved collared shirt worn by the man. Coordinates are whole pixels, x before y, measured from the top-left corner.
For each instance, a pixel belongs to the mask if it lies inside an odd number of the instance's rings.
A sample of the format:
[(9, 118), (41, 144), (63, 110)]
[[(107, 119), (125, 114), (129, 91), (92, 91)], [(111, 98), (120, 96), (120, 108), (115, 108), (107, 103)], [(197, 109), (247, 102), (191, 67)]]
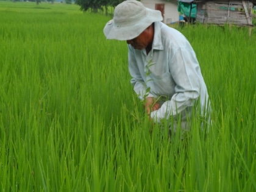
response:
[(158, 110), (151, 112), (155, 122), (188, 110), (197, 98), (202, 108), (207, 105), (207, 87), (196, 54), (178, 30), (155, 22), (154, 40), (148, 55), (145, 49), (133, 49), (130, 44), (128, 48), (134, 91), (141, 100), (151, 96), (161, 104)]

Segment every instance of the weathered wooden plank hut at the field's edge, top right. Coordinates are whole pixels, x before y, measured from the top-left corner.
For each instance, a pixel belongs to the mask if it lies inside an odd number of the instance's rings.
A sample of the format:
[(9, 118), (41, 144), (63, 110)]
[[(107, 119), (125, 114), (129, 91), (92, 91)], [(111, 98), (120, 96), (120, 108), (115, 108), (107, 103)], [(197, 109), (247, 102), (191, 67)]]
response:
[(196, 21), (203, 24), (235, 24), (238, 26), (253, 26), (252, 8), (254, 1), (194, 1), (197, 5)]

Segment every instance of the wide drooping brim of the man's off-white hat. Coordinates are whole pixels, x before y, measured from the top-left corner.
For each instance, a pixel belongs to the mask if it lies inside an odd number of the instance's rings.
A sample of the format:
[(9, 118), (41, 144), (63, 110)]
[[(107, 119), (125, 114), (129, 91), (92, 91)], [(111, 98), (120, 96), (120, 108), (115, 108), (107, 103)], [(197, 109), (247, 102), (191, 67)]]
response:
[(140, 21), (138, 21), (135, 24), (132, 24), (132, 26), (116, 26), (114, 20), (108, 21), (107, 24), (105, 24), (104, 27), (104, 34), (107, 39), (115, 39), (115, 40), (132, 40), (135, 37), (138, 37), (138, 35), (143, 32), (148, 26), (150, 26), (152, 23), (157, 21), (162, 21), (162, 13), (158, 10), (152, 10), (148, 9), (146, 16), (144, 18), (141, 18)]

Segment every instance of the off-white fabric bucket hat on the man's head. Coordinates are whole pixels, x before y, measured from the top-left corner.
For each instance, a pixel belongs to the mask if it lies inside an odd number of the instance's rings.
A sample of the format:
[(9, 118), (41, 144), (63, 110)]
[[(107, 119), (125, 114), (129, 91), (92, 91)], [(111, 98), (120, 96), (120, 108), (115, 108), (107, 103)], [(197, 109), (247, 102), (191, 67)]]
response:
[(116, 6), (113, 20), (104, 27), (104, 34), (107, 39), (132, 40), (152, 23), (162, 20), (160, 11), (148, 9), (136, 0), (127, 0)]

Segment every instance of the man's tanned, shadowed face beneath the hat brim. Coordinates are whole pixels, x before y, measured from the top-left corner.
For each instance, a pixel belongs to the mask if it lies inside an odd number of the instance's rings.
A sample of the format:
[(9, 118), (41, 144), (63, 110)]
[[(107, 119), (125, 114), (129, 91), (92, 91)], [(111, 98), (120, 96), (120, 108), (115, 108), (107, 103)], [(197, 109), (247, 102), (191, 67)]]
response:
[(149, 36), (151, 36), (151, 31), (148, 27), (147, 29), (143, 30), (143, 32), (138, 35), (138, 37), (135, 37), (132, 40), (127, 40), (126, 42), (127, 44), (132, 45), (134, 49), (142, 50), (152, 43), (152, 38)]

